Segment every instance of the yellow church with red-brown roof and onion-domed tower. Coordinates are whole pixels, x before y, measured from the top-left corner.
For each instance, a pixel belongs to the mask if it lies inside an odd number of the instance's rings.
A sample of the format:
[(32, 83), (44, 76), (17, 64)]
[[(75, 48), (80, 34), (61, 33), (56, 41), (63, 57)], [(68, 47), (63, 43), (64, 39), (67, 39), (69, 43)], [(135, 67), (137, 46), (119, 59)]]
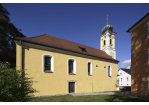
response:
[(13, 37), (16, 67), (33, 77), (35, 96), (117, 90), (115, 32), (106, 25), (101, 50), (51, 35)]

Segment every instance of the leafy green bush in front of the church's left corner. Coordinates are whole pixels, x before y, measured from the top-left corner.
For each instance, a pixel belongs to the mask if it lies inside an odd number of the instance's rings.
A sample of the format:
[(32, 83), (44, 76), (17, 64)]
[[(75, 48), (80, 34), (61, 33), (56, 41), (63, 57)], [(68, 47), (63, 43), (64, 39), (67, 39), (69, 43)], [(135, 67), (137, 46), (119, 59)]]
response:
[(10, 68), (8, 64), (0, 64), (0, 102), (25, 102), (31, 99), (32, 93), (38, 92), (32, 88), (32, 78), (28, 74), (22, 76), (24, 70)]

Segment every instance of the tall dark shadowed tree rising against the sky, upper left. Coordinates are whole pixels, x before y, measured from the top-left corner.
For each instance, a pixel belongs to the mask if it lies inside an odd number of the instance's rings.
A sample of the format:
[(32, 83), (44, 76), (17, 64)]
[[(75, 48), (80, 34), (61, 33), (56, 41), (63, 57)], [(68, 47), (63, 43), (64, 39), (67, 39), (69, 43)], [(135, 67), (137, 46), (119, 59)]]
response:
[(0, 4), (0, 63), (9, 62), (16, 66), (16, 46), (12, 36), (25, 37), (9, 19), (10, 13)]

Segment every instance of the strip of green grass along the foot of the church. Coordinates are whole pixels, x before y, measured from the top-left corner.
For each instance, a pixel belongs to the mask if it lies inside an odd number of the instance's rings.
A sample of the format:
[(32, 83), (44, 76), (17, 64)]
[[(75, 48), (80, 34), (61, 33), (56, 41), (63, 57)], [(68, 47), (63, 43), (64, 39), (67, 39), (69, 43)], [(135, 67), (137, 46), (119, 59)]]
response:
[(117, 95), (84, 95), (84, 96), (50, 96), (36, 97), (29, 102), (146, 102), (135, 98), (117, 96)]

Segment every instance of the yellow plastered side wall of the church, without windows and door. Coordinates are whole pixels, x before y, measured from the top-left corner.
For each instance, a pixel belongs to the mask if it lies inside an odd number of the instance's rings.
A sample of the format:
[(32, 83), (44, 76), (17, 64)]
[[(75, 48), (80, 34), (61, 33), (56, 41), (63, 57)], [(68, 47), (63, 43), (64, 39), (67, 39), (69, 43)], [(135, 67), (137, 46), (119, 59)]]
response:
[[(17, 67), (21, 66), (20, 51), (20, 45), (16, 44)], [(42, 72), (43, 54), (54, 56), (54, 73)], [(68, 75), (68, 58), (76, 60), (76, 75)], [(33, 83), (33, 88), (39, 91), (34, 93), (35, 96), (67, 94), (69, 81), (76, 82), (76, 93), (117, 90), (115, 84), (117, 81), (118, 64), (116, 63), (35, 49), (33, 47), (25, 49), (24, 59), (25, 73), (29, 74), (29, 77), (33, 77), (33, 81), (38, 81), (37, 83)], [(87, 75), (88, 61), (92, 62), (92, 76)], [(112, 77), (108, 77), (109, 65), (112, 68)]]

